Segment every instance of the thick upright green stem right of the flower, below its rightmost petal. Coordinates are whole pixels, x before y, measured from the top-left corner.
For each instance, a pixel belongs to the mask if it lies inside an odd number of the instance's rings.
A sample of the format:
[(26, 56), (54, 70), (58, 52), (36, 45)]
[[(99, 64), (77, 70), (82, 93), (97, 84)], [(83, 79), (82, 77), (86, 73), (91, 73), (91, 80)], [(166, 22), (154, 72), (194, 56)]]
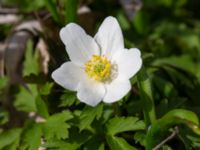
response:
[(155, 114), (155, 106), (151, 89), (151, 82), (144, 67), (140, 70), (137, 78), (138, 78), (140, 96), (144, 107), (143, 108), (144, 119), (146, 122), (146, 126), (148, 127), (156, 120), (156, 114)]

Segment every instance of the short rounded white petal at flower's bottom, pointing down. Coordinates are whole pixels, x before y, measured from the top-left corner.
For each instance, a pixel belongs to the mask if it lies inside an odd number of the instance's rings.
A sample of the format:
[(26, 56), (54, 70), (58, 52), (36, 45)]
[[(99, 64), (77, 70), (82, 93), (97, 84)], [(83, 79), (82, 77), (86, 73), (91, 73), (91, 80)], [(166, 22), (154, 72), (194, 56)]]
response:
[(78, 86), (78, 99), (90, 106), (96, 106), (100, 103), (104, 95), (105, 87), (102, 83), (88, 79), (81, 82)]

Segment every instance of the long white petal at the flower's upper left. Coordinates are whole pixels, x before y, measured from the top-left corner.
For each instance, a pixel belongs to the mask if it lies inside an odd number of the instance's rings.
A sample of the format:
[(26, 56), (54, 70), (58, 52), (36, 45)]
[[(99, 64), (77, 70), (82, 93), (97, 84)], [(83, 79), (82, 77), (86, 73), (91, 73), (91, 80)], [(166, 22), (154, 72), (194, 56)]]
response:
[(100, 53), (95, 40), (75, 23), (63, 27), (60, 30), (60, 37), (71, 61), (76, 64), (81, 65), (88, 61), (92, 55)]

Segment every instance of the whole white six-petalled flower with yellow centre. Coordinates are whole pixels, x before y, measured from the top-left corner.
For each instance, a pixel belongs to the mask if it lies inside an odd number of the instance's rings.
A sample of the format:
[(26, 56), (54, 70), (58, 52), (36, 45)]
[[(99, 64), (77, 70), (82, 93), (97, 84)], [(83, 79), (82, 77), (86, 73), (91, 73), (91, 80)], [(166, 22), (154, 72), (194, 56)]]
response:
[(96, 106), (113, 103), (131, 89), (129, 79), (142, 66), (137, 48), (125, 49), (121, 28), (114, 17), (107, 17), (94, 38), (77, 24), (60, 31), (71, 61), (52, 73), (62, 87), (77, 91), (81, 102)]

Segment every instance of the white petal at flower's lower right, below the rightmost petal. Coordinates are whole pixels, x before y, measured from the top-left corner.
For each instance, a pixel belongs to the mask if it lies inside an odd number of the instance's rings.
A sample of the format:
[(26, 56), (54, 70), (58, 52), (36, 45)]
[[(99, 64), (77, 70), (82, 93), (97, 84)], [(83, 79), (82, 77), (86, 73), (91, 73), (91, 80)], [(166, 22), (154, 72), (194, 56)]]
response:
[(106, 95), (103, 99), (106, 103), (113, 103), (122, 99), (131, 89), (128, 79), (117, 78), (106, 85)]

